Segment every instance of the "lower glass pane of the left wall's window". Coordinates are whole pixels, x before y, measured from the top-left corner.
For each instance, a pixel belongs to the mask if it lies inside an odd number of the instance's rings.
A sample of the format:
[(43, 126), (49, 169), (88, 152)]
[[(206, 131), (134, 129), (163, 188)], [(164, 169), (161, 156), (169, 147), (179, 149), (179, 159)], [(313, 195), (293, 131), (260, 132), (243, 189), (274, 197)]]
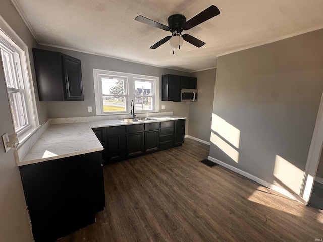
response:
[(15, 131), (27, 125), (26, 113), (24, 110), (24, 97), (22, 93), (8, 92), (10, 108), (14, 121)]

